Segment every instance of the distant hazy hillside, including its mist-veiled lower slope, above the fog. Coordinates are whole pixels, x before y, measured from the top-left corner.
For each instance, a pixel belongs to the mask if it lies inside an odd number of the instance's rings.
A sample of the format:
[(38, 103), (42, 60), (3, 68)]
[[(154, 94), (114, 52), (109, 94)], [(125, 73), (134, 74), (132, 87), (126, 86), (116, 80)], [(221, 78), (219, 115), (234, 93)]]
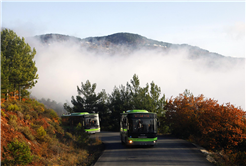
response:
[[(244, 58), (225, 57), (196, 46), (152, 40), (132, 33), (115, 33), (108, 36), (87, 37), (84, 39), (61, 34), (44, 34), (35, 36), (35, 38), (43, 45), (49, 46), (56, 43), (72, 42), (72, 44), (78, 44), (82, 49), (100, 55), (128, 56), (140, 50), (147, 52), (150, 56), (154, 56), (156, 53), (165, 56), (170, 55), (170, 52), (171, 55), (174, 55), (176, 52), (182, 52), (190, 60), (202, 60), (206, 66), (213, 68), (221, 66), (230, 68), (231, 66), (235, 66), (236, 63), (244, 63)], [(194, 63), (197, 62), (194, 61)], [(224, 64), (227, 66), (224, 66)]]

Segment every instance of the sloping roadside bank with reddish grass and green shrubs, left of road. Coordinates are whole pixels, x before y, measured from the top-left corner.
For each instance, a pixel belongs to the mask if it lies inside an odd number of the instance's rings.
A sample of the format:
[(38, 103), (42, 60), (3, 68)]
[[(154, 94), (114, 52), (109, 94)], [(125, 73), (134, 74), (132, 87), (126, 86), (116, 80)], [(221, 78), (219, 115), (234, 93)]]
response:
[(91, 165), (103, 151), (81, 126), (65, 132), (56, 112), (34, 99), (0, 102), (0, 165)]

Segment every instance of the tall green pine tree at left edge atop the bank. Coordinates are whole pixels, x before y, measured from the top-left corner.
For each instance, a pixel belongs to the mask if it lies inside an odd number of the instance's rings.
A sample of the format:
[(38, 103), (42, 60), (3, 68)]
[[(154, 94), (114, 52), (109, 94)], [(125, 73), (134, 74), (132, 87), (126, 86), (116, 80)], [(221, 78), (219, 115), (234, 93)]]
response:
[(22, 89), (32, 88), (37, 83), (37, 67), (33, 61), (36, 50), (32, 50), (25, 39), (18, 37), (14, 31), (4, 29), (0, 32), (0, 52), (0, 74), (1, 70), (4, 73), (0, 76), (4, 80), (0, 87), (6, 96), (8, 92), (18, 90), (21, 100)]

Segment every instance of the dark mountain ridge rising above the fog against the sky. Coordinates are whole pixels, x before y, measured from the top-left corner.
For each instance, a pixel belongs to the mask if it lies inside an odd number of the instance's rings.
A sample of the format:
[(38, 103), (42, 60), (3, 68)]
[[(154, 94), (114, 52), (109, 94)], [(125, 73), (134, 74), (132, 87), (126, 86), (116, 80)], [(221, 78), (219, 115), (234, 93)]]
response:
[[(112, 55), (117, 54), (119, 52), (123, 54), (130, 54), (139, 49), (159, 49), (160, 51), (164, 52), (168, 52), (171, 49), (187, 49), (189, 51), (189, 56), (192, 59), (204, 56), (213, 58), (244, 59), (226, 57), (224, 55), (215, 52), (210, 52), (208, 50), (189, 44), (172, 44), (168, 42), (157, 41), (141, 36), (139, 34), (133, 34), (128, 32), (119, 32), (107, 36), (86, 37), (83, 39), (79, 37), (55, 33), (36, 35), (34, 36), (34, 38), (41, 41), (41, 43), (48, 45), (55, 42), (73, 41), (75, 43), (80, 44), (82, 47), (87, 48), (89, 51), (96, 51), (97, 53), (109, 53)], [(121, 46), (124, 46), (126, 49), (122, 50), (120, 48)]]

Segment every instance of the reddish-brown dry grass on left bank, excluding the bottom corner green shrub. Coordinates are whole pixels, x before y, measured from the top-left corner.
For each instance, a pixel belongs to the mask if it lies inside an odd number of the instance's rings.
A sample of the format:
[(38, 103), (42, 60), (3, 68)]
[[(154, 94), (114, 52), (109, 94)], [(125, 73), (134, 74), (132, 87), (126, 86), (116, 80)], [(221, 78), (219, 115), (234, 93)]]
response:
[[(64, 133), (58, 121), (54, 121), (53, 112), (43, 108), (34, 100), (0, 104), (0, 107), (3, 107), (0, 109), (0, 131), (2, 131), (0, 132), (0, 152), (3, 151), (3, 146), (6, 147), (13, 138), (22, 140), (28, 143), (32, 155), (34, 155), (33, 161), (28, 166), (89, 166), (104, 150), (102, 141), (98, 137), (87, 140), (86, 146), (78, 147), (77, 136)], [(18, 105), (19, 111), (24, 117), (17, 116), (15, 110), (7, 111), (5, 109), (11, 104)], [(37, 108), (41, 111), (35, 110)], [(39, 111), (39, 114), (36, 111)], [(46, 113), (46, 116), (43, 115), (43, 112)], [(43, 127), (43, 130), (38, 132), (40, 127)], [(42, 141), (38, 139), (39, 137), (42, 138)], [(0, 161), (2, 159), (0, 153)]]

